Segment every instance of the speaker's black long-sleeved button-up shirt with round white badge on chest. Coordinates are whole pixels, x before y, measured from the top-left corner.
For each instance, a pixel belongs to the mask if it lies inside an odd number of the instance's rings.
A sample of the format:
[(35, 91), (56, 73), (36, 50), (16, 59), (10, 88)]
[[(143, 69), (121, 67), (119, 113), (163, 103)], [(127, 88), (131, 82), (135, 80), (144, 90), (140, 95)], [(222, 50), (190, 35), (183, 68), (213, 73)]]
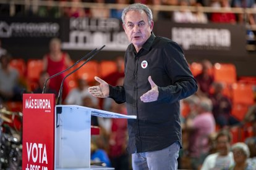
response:
[[(158, 86), (155, 102), (140, 100), (151, 89), (148, 76)], [(137, 53), (133, 44), (125, 54), (124, 86), (109, 86), (109, 97), (126, 102), (128, 115), (129, 153), (161, 150), (178, 141), (181, 144), (179, 100), (194, 94), (197, 82), (189, 70), (184, 53), (176, 42), (155, 36)]]

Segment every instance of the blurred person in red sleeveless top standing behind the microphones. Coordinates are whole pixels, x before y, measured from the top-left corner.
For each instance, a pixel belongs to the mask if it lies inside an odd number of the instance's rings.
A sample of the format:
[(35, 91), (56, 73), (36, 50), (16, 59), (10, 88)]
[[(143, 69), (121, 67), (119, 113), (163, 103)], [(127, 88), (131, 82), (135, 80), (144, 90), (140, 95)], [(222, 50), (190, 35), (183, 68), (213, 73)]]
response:
[[(49, 42), (49, 53), (43, 57), (43, 71), (47, 71), (49, 76), (53, 76), (65, 70), (71, 65), (69, 54), (61, 51), (61, 41), (58, 38), (53, 38)], [(59, 93), (64, 74), (56, 76), (49, 82), (49, 87)], [(64, 81), (62, 99), (65, 99), (68, 93), (67, 82)]]

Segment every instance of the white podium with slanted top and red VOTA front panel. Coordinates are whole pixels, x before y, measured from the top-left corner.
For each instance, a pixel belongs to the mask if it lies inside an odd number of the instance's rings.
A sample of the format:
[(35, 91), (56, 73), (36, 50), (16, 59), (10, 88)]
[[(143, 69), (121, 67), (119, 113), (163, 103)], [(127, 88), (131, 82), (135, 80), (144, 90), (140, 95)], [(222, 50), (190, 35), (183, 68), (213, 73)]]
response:
[(136, 118), (78, 105), (55, 105), (54, 94), (23, 94), (22, 169), (113, 169), (90, 166), (91, 115)]

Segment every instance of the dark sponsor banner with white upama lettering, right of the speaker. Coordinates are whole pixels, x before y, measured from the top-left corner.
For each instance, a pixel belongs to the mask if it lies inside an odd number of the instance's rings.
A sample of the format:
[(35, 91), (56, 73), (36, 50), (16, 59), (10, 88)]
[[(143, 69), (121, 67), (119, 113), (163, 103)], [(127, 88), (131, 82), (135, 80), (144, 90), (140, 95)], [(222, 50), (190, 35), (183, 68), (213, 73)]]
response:
[(155, 24), (155, 32), (177, 42), (186, 55), (244, 57), (247, 54), (244, 25), (171, 22), (166, 24), (159, 21)]

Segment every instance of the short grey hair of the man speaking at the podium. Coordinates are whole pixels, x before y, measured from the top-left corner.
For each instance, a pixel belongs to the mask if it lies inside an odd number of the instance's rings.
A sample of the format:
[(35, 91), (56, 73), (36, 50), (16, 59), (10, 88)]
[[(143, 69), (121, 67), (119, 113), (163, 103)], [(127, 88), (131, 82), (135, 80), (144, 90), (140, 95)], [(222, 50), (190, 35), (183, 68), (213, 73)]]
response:
[(148, 16), (148, 23), (150, 24), (151, 21), (153, 20), (153, 15), (151, 12), (151, 9), (148, 6), (145, 6), (144, 4), (131, 4), (130, 6), (126, 7), (123, 11), (122, 11), (122, 23), (125, 24), (126, 22), (124, 21), (124, 19), (126, 18), (126, 14), (127, 12), (129, 12), (130, 10), (135, 10), (135, 11), (139, 11), (142, 12), (144, 11), (147, 16)]

